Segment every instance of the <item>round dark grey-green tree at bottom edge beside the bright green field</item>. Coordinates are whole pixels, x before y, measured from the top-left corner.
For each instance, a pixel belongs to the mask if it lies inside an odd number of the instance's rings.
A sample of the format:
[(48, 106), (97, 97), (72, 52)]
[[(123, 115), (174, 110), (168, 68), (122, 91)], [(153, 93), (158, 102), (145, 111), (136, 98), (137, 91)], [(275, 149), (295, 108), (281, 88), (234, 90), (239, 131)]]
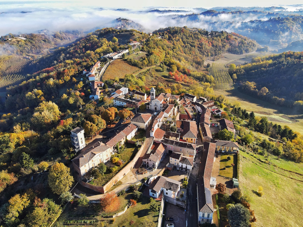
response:
[(249, 210), (240, 203), (237, 203), (234, 207), (230, 207), (227, 216), (228, 222), (232, 227), (247, 227), (249, 225)]

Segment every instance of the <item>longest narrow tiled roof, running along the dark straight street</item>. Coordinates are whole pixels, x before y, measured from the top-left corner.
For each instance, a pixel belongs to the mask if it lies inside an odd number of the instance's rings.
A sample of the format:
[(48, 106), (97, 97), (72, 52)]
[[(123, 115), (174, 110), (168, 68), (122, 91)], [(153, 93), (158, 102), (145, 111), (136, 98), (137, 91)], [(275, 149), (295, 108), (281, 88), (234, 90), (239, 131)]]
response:
[(214, 206), (211, 199), (210, 179), (215, 157), (215, 143), (204, 143), (201, 166), (198, 175), (203, 176), (198, 179), (198, 200), (200, 212), (213, 213)]

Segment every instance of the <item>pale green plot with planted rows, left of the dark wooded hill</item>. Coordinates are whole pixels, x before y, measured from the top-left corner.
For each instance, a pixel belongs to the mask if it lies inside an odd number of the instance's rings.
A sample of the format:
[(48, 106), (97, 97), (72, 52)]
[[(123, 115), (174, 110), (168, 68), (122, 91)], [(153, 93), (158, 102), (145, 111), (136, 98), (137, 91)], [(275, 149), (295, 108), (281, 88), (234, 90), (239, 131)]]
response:
[(215, 89), (228, 90), (232, 87), (232, 79), (224, 64), (213, 63), (209, 71), (215, 79)]

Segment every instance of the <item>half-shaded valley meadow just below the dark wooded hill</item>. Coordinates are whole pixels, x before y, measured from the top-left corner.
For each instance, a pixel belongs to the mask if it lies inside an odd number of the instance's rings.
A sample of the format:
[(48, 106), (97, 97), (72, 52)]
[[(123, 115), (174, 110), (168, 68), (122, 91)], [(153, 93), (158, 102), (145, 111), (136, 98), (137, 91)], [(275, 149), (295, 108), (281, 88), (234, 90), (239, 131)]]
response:
[(303, 118), (302, 115), (294, 113), (291, 108), (279, 107), (241, 93), (237, 89), (232, 90), (215, 90), (216, 95), (224, 95), (231, 104), (240, 104), (242, 109), (251, 112), (254, 111), (256, 116), (267, 117), (273, 123), (278, 123), (282, 127), (287, 125), (293, 131), (303, 134)]

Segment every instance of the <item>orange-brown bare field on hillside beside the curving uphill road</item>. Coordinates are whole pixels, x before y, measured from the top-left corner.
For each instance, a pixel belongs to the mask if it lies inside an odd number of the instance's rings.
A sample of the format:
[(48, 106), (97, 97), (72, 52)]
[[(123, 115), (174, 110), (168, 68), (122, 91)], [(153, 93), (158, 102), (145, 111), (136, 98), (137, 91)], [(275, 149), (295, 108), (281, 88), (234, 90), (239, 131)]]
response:
[(102, 80), (110, 80), (115, 77), (124, 78), (126, 74), (133, 74), (137, 70), (139, 70), (138, 67), (130, 65), (122, 59), (117, 59), (108, 65)]

